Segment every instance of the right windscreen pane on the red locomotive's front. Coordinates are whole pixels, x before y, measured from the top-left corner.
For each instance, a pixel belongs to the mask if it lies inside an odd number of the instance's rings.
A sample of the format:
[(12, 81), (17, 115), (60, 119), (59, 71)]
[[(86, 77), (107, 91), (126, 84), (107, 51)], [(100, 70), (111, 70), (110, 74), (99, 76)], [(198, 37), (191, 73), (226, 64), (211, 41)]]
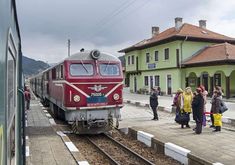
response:
[(120, 68), (118, 64), (100, 64), (100, 74), (102, 76), (118, 76), (120, 75)]

